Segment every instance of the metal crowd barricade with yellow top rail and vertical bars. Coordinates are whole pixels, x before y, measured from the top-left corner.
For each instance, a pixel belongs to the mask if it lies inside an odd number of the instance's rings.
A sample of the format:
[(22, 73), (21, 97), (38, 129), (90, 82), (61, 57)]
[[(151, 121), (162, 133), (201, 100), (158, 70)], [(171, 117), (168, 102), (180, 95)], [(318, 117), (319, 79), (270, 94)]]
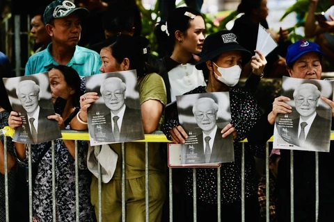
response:
[[(2, 131), (0, 130), (0, 136), (3, 137)], [(76, 194), (76, 221), (80, 221), (79, 218), (79, 163), (78, 163), (78, 147), (77, 140), (89, 140), (89, 135), (87, 131), (75, 131), (75, 130), (63, 130), (62, 138), (64, 140), (75, 140), (75, 194)], [(334, 140), (334, 133), (331, 133), (331, 140)], [(145, 139), (138, 140), (136, 142), (145, 142), (145, 221), (150, 221), (149, 214), (149, 169), (148, 169), (148, 143), (151, 142), (162, 142), (168, 143), (170, 142), (166, 139), (166, 136), (161, 131), (155, 131), (152, 134), (145, 135)], [(241, 221), (245, 221), (245, 156), (244, 156), (244, 144), (247, 142), (245, 139), (242, 141), (242, 154), (241, 154)], [(268, 140), (266, 144), (266, 221), (269, 222), (269, 142), (273, 142), (273, 137)], [(127, 143), (122, 143), (121, 151), (122, 151), (122, 221), (126, 221), (126, 205), (125, 205), (125, 148)], [(8, 156), (7, 153), (7, 139), (3, 138), (4, 145), (4, 171), (5, 171), (5, 202), (6, 202), (6, 221), (9, 221), (9, 200), (8, 200)], [(32, 187), (32, 163), (31, 163), (31, 145), (27, 145), (28, 148), (28, 167), (29, 167), (29, 221), (33, 221), (33, 187)], [(51, 142), (51, 157), (52, 157), (52, 213), (53, 213), (53, 221), (57, 221), (57, 207), (56, 207), (56, 173), (55, 173), (55, 150), (54, 150), (54, 141)], [(100, 146), (95, 146), (97, 151), (100, 151)], [(315, 215), (316, 221), (318, 221), (319, 215), (319, 155), (318, 152), (315, 154)], [(168, 169), (169, 176), (169, 221), (173, 221), (173, 169)], [(221, 187), (221, 169), (217, 169), (217, 187)], [(294, 221), (294, 152), (290, 151), (290, 188), (291, 188), (291, 222)], [(197, 221), (197, 185), (196, 185), (196, 168), (193, 168), (193, 221)], [(99, 222), (102, 222), (102, 174), (101, 174), (101, 165), (98, 164), (98, 214), (97, 218)], [(218, 210), (218, 221), (221, 221), (221, 189), (217, 190), (217, 210)]]

